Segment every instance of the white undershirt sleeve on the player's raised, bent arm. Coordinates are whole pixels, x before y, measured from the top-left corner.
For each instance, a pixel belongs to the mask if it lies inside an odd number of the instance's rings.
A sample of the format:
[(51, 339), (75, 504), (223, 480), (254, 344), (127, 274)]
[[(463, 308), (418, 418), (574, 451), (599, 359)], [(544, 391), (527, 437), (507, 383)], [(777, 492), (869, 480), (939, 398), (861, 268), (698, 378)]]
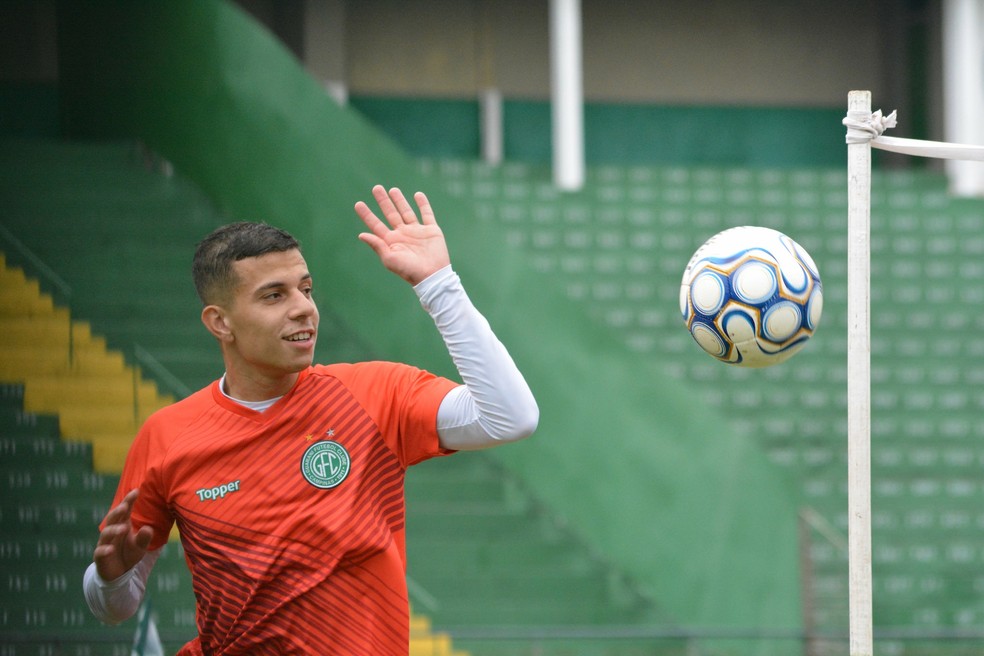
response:
[(438, 409), (441, 446), (483, 449), (531, 435), (539, 421), (533, 393), (451, 266), (418, 283), (414, 291), (464, 381)]

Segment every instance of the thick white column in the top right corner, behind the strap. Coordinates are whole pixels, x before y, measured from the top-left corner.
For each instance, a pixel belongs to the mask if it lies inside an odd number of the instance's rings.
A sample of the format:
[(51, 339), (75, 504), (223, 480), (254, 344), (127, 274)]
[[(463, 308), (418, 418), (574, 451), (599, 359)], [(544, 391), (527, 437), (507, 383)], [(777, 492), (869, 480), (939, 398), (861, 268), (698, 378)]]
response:
[[(984, 0), (943, 2), (943, 135), (984, 145)], [(947, 160), (950, 191), (984, 196), (984, 163)]]

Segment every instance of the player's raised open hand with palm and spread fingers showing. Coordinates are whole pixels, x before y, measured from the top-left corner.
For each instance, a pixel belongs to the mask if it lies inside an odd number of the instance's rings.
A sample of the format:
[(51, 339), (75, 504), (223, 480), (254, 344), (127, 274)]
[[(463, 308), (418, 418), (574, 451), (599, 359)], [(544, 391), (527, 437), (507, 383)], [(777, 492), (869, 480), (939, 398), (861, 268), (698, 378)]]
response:
[(399, 189), (394, 187), (387, 192), (382, 185), (376, 185), (372, 195), (389, 226), (368, 205), (359, 201), (355, 204), (355, 213), (370, 231), (360, 233), (359, 239), (376, 252), (383, 266), (416, 285), (451, 263), (444, 233), (423, 192), (413, 195), (420, 210), (419, 220)]

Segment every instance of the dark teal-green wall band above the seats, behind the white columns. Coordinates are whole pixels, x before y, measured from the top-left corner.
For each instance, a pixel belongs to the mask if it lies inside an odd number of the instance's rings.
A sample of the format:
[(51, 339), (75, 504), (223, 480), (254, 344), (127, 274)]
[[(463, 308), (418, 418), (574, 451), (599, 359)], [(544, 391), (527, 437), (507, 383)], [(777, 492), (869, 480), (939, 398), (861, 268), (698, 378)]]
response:
[[(351, 104), (412, 153), (478, 157), (478, 102), (353, 97)], [(688, 107), (588, 102), (585, 158), (591, 164), (842, 166), (843, 110)], [(508, 160), (549, 163), (550, 105), (503, 103)]]

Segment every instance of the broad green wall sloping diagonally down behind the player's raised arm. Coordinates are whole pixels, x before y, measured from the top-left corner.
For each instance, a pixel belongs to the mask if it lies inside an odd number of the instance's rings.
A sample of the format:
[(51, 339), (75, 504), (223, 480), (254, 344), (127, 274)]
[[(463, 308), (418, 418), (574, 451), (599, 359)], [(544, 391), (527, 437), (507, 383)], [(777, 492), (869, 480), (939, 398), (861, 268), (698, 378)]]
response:
[(59, 10), (67, 134), (139, 137), (230, 217), (291, 230), (323, 311), (344, 317), (367, 355), (450, 373), (412, 291), (358, 242), (351, 209), (375, 182), (428, 191), (466, 288), (541, 405), (538, 434), (495, 456), (681, 625), (799, 626), (792, 487), (659, 362), (630, 354), (561, 281), (336, 106), (266, 31), (218, 0)]

